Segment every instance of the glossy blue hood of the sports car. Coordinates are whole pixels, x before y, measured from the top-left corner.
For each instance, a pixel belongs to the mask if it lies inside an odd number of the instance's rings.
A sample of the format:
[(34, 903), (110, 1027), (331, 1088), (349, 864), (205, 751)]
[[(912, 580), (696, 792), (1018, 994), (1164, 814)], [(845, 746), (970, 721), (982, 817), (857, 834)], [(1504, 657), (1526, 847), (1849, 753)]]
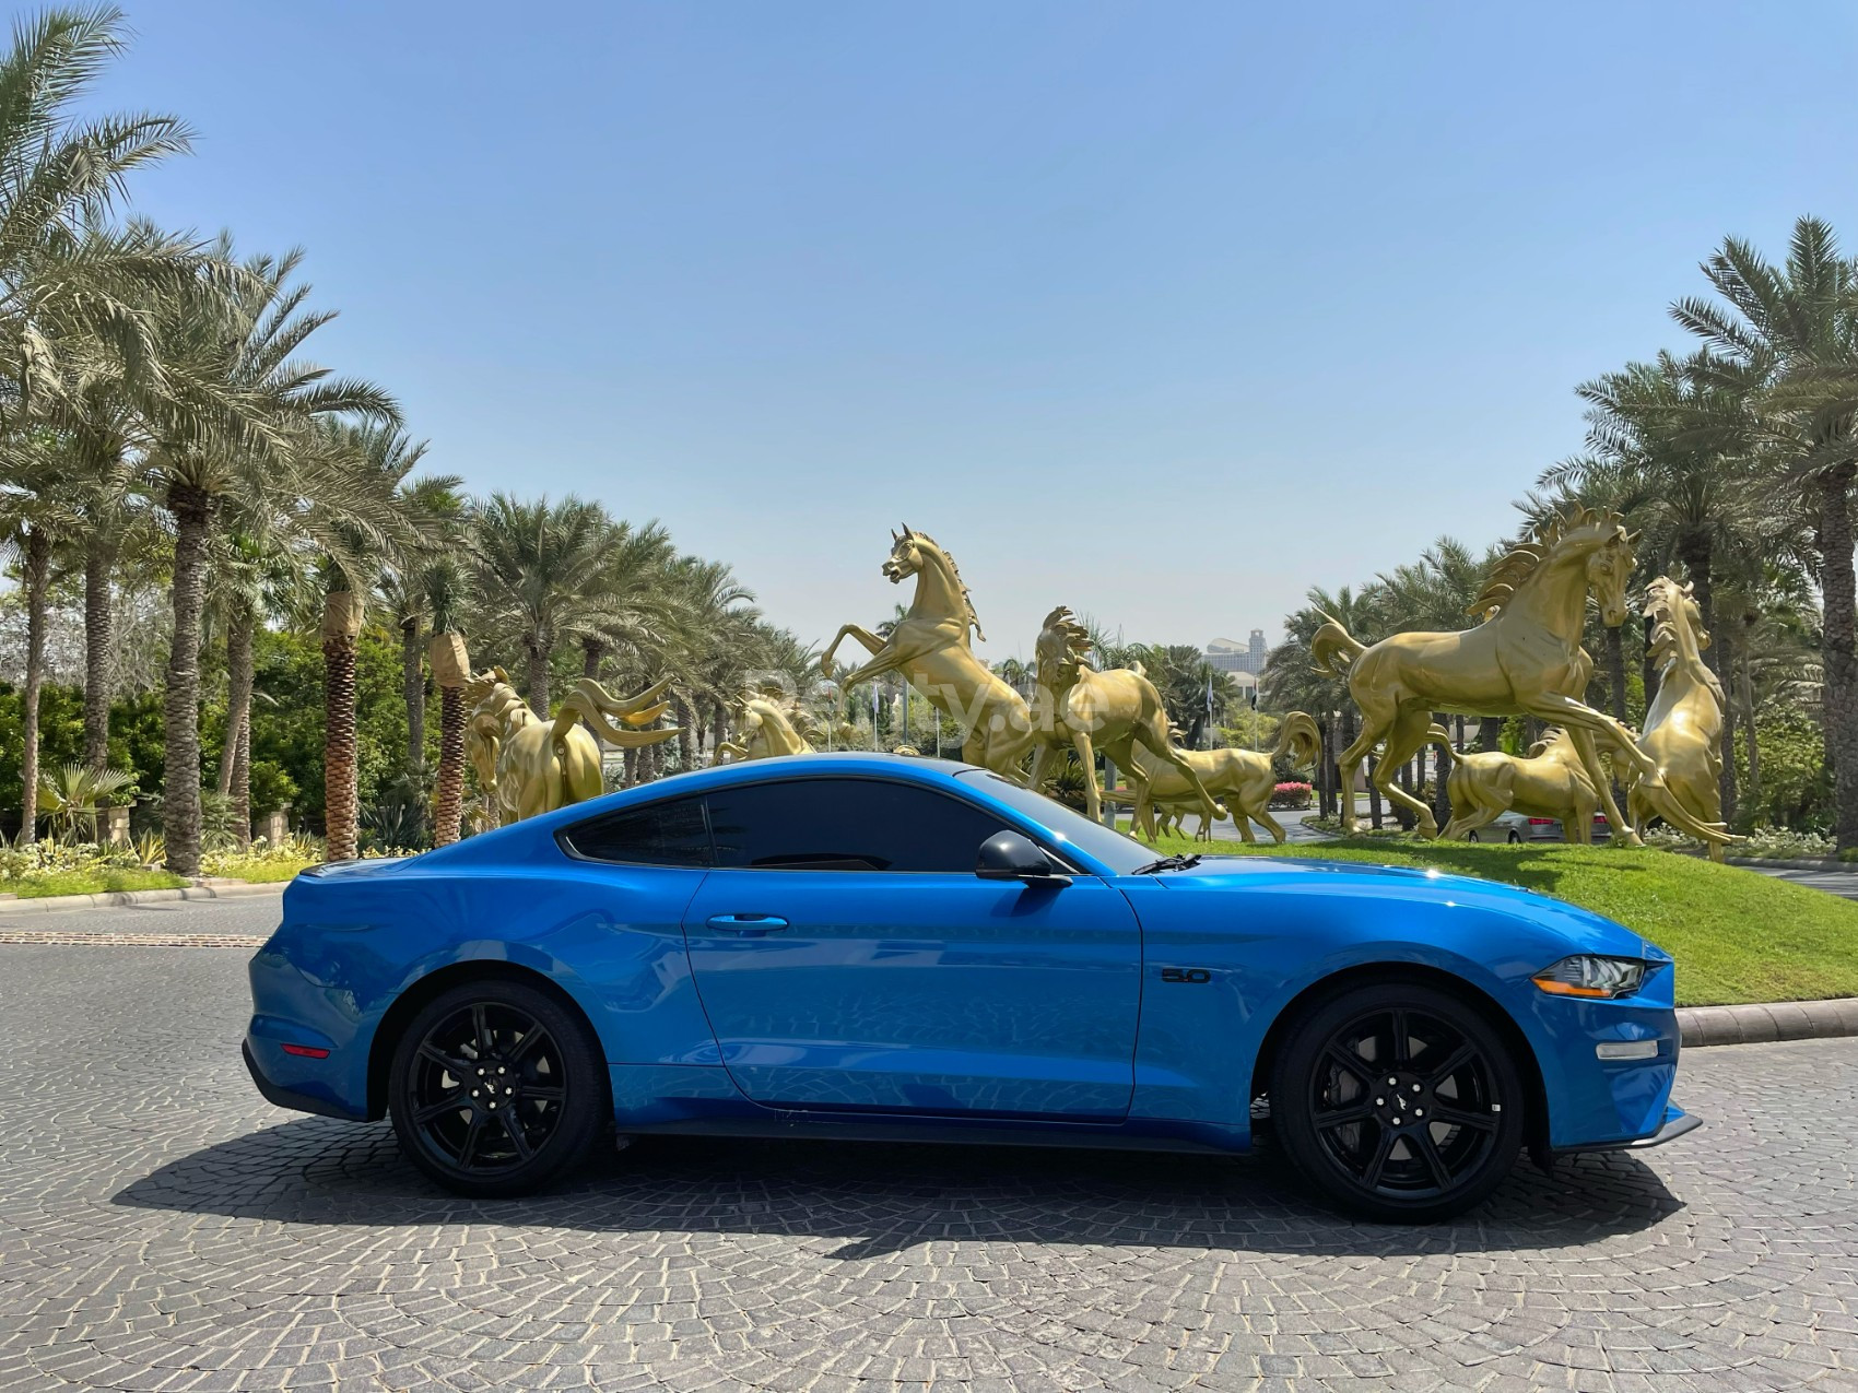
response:
[(1418, 866), (1371, 866), (1366, 862), (1299, 860), (1293, 856), (1206, 856), (1180, 871), (1161, 871), (1156, 880), (1174, 892), (1276, 892), (1343, 895), (1360, 899), (1429, 901), (1479, 908), (1551, 925), (1583, 940), (1585, 951), (1667, 960), (1668, 955), (1642, 934), (1564, 899), (1499, 880)]

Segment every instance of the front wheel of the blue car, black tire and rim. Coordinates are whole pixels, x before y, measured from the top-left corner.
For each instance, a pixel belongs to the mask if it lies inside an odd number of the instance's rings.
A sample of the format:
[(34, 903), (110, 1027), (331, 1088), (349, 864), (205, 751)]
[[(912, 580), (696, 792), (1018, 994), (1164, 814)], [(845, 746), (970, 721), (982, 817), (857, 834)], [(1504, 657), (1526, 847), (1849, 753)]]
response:
[(1483, 1202), (1516, 1165), (1524, 1107), (1498, 1027), (1420, 983), (1314, 1003), (1271, 1070), (1271, 1120), (1289, 1161), (1340, 1207), (1388, 1224)]

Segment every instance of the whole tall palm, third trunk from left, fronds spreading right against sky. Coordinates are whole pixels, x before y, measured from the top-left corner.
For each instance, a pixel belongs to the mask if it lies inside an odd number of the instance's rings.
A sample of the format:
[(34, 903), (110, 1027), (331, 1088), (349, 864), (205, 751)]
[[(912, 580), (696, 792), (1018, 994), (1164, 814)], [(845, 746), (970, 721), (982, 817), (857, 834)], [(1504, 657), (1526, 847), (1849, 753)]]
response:
[[(221, 238), (216, 262), (230, 260)], [(310, 286), (292, 286), (303, 254), (253, 256), (214, 297), (164, 303), (165, 345), (201, 384), (199, 410), (177, 412), (145, 457), (141, 487), (175, 522), (173, 648), (164, 702), (162, 834), (167, 869), (201, 864), (201, 613), (210, 544), (227, 500), (271, 498), (284, 526), (344, 509), (379, 514), (342, 451), (321, 448), (316, 422), (359, 416), (398, 423), (399, 409), (372, 383), (331, 377), (294, 355), (334, 312), (307, 312)]]

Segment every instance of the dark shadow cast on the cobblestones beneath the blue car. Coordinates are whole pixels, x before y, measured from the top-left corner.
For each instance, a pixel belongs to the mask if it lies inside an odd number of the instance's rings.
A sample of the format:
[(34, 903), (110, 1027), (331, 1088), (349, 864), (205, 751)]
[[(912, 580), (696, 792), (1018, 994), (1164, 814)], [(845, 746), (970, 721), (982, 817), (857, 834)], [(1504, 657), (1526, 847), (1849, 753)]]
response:
[(299, 1118), (171, 1161), (113, 1196), (137, 1209), (336, 1226), (515, 1224), (589, 1233), (840, 1241), (864, 1259), (918, 1243), (1089, 1243), (1306, 1256), (1563, 1248), (1648, 1230), (1683, 1205), (1629, 1153), (1527, 1161), (1438, 1226), (1353, 1222), (1263, 1144), (1249, 1157), (884, 1142), (648, 1139), (602, 1148), (522, 1200), (429, 1183), (385, 1124)]

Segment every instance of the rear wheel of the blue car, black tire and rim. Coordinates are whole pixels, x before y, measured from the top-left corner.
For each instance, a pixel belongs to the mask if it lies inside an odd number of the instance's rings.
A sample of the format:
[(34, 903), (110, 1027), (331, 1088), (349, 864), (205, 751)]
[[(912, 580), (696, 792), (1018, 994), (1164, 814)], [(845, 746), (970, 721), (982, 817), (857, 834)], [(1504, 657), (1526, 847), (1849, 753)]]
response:
[(524, 983), (463, 983), (394, 1046), (399, 1148), (457, 1194), (528, 1194), (578, 1166), (611, 1122), (602, 1051), (578, 1010)]

